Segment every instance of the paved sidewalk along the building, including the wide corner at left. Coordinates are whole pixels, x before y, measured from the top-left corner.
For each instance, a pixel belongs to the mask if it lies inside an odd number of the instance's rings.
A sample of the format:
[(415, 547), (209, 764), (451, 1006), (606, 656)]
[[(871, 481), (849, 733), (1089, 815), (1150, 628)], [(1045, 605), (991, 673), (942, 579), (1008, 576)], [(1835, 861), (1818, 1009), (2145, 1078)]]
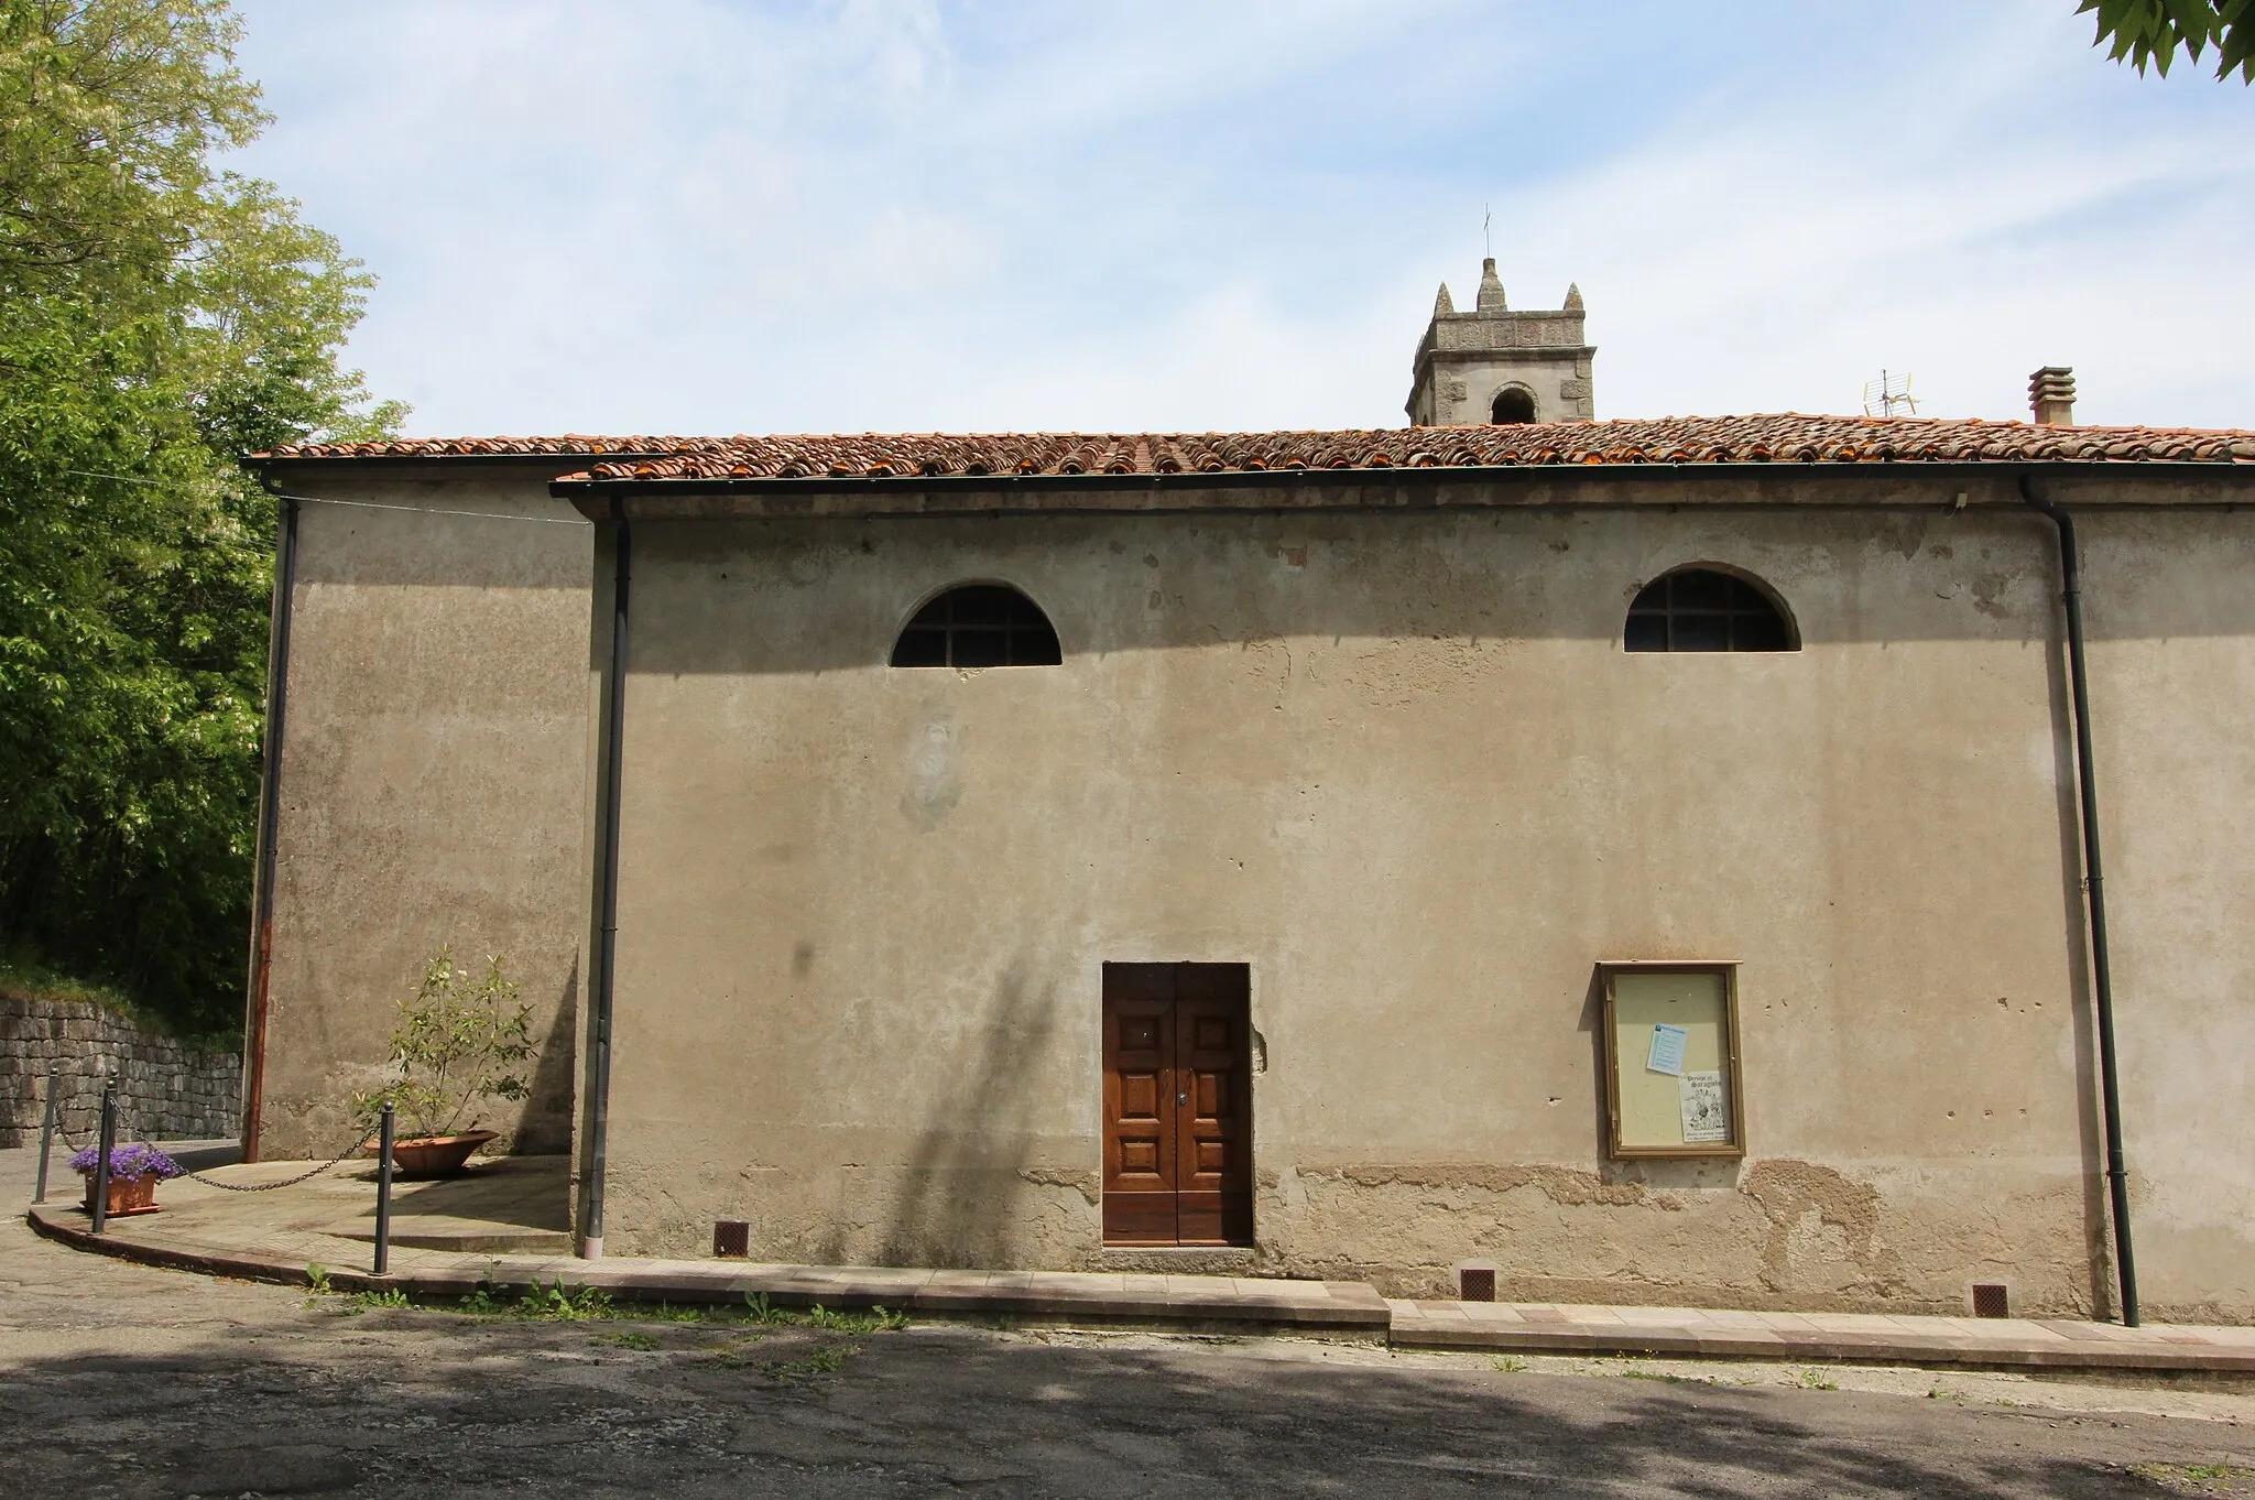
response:
[[(228, 1166), (219, 1182), (255, 1186), (307, 1162)], [(1709, 1308), (1551, 1306), (1385, 1299), (1362, 1281), (1184, 1277), (1139, 1272), (981, 1272), (746, 1261), (580, 1261), (566, 1247), (559, 1157), (480, 1162), (451, 1182), (399, 1184), (390, 1277), (368, 1274), (374, 1186), (345, 1166), (295, 1186), (230, 1193), (167, 1182), (162, 1214), (90, 1234), (77, 1180), (29, 1218), (81, 1250), (257, 1281), (304, 1283), (322, 1265), (341, 1288), (399, 1286), (460, 1297), (489, 1288), (593, 1286), (622, 1302), (742, 1302), (1073, 1324), (1288, 1331), (1398, 1349), (1497, 1353), (1721, 1356), (2002, 1369), (2120, 1369), (2255, 1376), (2255, 1329), (1975, 1320), (1876, 1313), (1741, 1313)], [(63, 1186), (72, 1195), (63, 1198)], [(516, 1254), (512, 1254), (516, 1252)], [(530, 1252), (530, 1254), (525, 1254)]]

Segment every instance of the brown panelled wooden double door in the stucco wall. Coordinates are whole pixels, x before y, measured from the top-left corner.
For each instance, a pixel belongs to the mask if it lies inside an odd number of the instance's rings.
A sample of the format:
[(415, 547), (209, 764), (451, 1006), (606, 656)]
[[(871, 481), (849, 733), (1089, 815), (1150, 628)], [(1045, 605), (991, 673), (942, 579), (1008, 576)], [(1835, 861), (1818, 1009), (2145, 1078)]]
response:
[(1252, 970), (1105, 965), (1105, 1243), (1252, 1245)]

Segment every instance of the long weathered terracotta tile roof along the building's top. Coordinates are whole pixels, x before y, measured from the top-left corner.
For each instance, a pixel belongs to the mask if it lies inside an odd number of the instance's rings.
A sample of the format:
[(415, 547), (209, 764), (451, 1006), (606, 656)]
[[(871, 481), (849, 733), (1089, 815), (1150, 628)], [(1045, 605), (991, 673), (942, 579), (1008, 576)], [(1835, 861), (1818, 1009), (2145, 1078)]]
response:
[[(293, 444), (268, 458), (552, 453), (582, 480), (916, 478), (988, 474), (1249, 474), (1705, 462), (2255, 465), (2255, 433), (2034, 426), (1951, 417), (1655, 417), (1315, 433), (859, 433), (773, 438), (417, 438)], [(609, 458), (607, 458), (609, 456)]]

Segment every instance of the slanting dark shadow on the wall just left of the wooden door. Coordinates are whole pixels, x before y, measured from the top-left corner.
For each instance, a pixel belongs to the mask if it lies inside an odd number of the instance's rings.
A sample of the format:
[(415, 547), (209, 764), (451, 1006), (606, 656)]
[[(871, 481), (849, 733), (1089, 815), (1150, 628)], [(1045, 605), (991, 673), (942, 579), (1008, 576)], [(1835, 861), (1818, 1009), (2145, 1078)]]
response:
[[(879, 1229), (884, 1265), (1010, 1265), (1024, 1234), (1024, 1180), (1040, 1139), (1040, 1083), (1051, 1087), (1058, 992), (1035, 988), (1024, 961), (994, 981), (994, 997), (916, 1148), (900, 1166)], [(843, 1245), (832, 1247), (839, 1263)]]

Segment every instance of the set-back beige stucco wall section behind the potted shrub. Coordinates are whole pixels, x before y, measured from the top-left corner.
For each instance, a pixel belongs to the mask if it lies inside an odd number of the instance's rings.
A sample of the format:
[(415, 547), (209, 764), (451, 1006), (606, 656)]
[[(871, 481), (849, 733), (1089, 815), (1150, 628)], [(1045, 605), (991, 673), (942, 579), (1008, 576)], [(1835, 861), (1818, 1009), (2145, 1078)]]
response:
[(289, 476), (295, 494), (406, 510), (300, 514), (268, 1159), (352, 1137), (352, 1094), (381, 1080), (397, 1006), (442, 943), (474, 974), (501, 954), (532, 1004), (532, 1096), (483, 1108), (492, 1148), (568, 1148), (593, 528), (548, 496), (566, 467)]

